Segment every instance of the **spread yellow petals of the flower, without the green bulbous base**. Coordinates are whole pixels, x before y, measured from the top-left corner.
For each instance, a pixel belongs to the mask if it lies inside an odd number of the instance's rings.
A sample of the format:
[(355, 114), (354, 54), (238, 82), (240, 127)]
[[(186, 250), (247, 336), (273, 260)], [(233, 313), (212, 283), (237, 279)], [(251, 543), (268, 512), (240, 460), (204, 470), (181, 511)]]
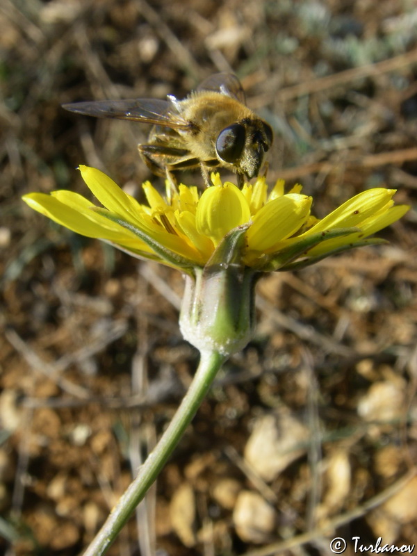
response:
[(147, 204), (140, 204), (103, 172), (87, 166), (79, 170), (104, 208), (66, 190), (29, 193), (24, 201), (83, 236), (189, 273), (203, 268), (239, 227), (245, 227), (240, 264), (255, 272), (284, 270), (378, 243), (366, 238), (409, 208), (393, 206), (395, 190), (377, 188), (359, 193), (317, 220), (310, 213), (312, 199), (302, 195), (301, 186), (284, 194), (284, 182), (277, 181), (268, 195), (263, 177), (240, 190), (233, 183), (222, 183), (218, 174), (201, 195), (195, 187), (180, 185), (167, 199), (146, 182), (142, 188)]

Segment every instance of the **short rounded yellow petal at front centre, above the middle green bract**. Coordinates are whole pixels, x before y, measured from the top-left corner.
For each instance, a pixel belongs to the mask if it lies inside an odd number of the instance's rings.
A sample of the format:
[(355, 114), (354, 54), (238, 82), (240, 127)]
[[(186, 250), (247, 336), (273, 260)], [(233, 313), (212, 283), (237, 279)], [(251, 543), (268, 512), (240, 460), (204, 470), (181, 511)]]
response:
[(240, 189), (226, 182), (204, 191), (195, 216), (199, 234), (217, 246), (231, 229), (249, 222), (250, 208)]

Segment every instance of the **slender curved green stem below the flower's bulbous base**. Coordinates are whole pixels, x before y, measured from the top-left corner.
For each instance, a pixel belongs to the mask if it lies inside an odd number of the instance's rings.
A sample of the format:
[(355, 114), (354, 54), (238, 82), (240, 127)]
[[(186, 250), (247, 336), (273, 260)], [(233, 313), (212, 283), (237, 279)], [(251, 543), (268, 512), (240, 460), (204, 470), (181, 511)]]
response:
[(154, 480), (156, 480), (167, 459), (179, 443), (181, 436), (195, 416), (208, 389), (210, 389), (215, 375), (217, 375), (218, 370), (226, 359), (227, 357), (218, 352), (202, 353), (193, 382), (172, 418), (170, 425), (167, 427), (154, 451), (149, 454), (145, 463), (140, 466), (136, 479), (131, 482), (122, 494), (122, 497), (97, 533), (95, 539), (88, 546), (84, 556), (100, 556), (111, 546), (111, 543), (113, 543), (140, 500), (145, 497), (148, 489)]

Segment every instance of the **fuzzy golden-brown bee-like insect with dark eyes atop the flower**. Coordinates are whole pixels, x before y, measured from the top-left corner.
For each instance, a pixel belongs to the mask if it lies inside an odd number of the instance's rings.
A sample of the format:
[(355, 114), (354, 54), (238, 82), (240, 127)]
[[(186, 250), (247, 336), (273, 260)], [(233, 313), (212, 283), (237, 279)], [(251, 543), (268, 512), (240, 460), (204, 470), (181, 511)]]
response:
[(245, 93), (233, 74), (213, 74), (188, 97), (178, 100), (133, 99), (64, 104), (65, 110), (153, 124), (140, 156), (156, 175), (200, 165), (227, 168), (249, 179), (259, 174), (272, 144), (272, 129), (245, 106)]

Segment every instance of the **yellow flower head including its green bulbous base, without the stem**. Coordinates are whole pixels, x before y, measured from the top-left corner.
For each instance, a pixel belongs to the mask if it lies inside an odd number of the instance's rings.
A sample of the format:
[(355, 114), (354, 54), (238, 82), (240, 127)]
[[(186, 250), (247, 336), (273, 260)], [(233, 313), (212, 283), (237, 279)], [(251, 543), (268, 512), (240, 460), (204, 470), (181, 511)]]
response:
[(263, 272), (302, 268), (352, 247), (381, 243), (368, 236), (409, 209), (393, 206), (395, 190), (378, 188), (318, 220), (300, 185), (285, 194), (284, 182), (277, 181), (268, 195), (264, 178), (240, 190), (222, 183), (218, 174), (202, 194), (180, 185), (166, 198), (147, 181), (142, 186), (147, 204), (140, 204), (103, 172), (79, 169), (101, 207), (71, 191), (30, 193), (24, 201), (79, 234), (183, 270), (181, 332), (200, 352), (226, 357), (252, 337), (254, 286)]

